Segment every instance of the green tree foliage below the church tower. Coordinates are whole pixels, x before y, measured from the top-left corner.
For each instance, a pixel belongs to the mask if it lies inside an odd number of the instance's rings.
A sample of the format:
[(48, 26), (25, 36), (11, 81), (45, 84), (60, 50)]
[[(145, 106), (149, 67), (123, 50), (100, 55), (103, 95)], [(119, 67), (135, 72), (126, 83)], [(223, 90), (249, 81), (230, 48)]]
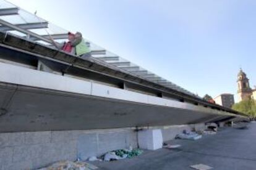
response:
[(232, 108), (249, 116), (256, 117), (256, 102), (253, 99), (243, 100), (239, 103), (235, 103)]

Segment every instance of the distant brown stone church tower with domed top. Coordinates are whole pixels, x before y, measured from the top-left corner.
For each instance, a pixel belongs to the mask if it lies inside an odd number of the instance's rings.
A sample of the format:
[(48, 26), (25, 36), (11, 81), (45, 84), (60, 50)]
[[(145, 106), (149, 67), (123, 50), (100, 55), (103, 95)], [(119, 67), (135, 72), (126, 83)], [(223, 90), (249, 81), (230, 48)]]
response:
[[(237, 75), (237, 85), (238, 85), (238, 102), (242, 100), (250, 99), (254, 90), (250, 88), (249, 79), (242, 69), (240, 69)], [(256, 96), (255, 96), (256, 97)], [(255, 99), (255, 98), (254, 98)]]

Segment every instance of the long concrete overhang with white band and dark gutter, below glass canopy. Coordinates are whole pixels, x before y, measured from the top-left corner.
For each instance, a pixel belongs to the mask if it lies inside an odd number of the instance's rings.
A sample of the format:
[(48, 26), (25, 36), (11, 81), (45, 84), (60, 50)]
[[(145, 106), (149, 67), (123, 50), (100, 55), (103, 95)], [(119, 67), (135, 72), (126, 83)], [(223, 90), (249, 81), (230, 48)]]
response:
[(242, 117), (229, 108), (0, 33), (0, 131), (105, 129)]

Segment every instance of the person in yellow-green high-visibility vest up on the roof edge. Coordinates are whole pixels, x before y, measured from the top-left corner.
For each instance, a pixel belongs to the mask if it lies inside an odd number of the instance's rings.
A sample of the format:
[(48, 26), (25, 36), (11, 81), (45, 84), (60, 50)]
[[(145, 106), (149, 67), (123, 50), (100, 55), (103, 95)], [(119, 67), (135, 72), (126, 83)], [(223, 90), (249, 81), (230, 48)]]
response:
[(75, 47), (75, 55), (82, 58), (91, 57), (90, 48), (85, 43), (80, 32), (75, 33), (74, 41), (71, 41), (71, 44)]

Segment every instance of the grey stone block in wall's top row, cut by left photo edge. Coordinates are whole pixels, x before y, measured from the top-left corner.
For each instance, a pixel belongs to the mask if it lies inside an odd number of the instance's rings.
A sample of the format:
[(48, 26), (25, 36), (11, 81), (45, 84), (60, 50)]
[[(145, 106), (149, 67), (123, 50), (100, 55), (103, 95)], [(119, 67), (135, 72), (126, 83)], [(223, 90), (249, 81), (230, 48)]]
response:
[(23, 132), (0, 133), (0, 148), (19, 146), (24, 143), (24, 140)]

